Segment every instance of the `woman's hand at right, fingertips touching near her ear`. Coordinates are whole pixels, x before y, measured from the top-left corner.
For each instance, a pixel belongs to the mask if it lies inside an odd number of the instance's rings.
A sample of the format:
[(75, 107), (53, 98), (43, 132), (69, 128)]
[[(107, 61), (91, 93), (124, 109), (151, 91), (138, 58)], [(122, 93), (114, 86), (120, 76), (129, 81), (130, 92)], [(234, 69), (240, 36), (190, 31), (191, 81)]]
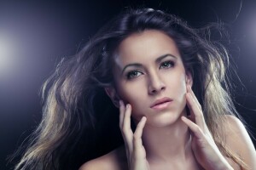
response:
[(190, 116), (189, 118), (182, 116), (182, 120), (190, 129), (191, 147), (196, 161), (207, 170), (233, 169), (212, 139), (212, 134), (207, 127), (201, 110), (201, 105), (190, 86), (187, 87), (187, 92), (186, 99)]

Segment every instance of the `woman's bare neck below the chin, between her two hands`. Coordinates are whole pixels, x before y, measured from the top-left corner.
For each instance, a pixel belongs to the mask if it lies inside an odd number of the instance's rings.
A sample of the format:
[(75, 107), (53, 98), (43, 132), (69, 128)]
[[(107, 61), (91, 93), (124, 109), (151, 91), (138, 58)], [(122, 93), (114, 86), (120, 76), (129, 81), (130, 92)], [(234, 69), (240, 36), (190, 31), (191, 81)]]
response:
[(189, 129), (180, 118), (167, 127), (146, 125), (143, 129), (143, 145), (148, 161), (186, 160), (192, 154)]

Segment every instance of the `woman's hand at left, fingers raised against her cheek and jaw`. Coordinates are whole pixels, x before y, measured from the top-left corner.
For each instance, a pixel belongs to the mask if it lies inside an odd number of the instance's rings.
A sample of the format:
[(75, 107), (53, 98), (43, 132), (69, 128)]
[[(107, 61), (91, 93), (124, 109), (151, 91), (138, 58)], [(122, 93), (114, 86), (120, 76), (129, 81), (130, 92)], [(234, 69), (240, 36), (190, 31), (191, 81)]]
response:
[(143, 127), (145, 126), (147, 118), (143, 116), (133, 133), (131, 130), (131, 105), (124, 105), (124, 102), (120, 100), (119, 111), (119, 127), (125, 141), (129, 170), (149, 170), (146, 150), (142, 140)]

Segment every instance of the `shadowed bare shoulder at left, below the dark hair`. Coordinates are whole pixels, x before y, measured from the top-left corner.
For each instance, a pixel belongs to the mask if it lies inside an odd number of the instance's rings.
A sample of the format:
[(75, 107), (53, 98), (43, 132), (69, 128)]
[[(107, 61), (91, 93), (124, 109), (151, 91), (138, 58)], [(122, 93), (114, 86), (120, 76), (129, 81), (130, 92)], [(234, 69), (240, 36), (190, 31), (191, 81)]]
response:
[(85, 162), (79, 170), (125, 170), (127, 161), (124, 146), (96, 159)]

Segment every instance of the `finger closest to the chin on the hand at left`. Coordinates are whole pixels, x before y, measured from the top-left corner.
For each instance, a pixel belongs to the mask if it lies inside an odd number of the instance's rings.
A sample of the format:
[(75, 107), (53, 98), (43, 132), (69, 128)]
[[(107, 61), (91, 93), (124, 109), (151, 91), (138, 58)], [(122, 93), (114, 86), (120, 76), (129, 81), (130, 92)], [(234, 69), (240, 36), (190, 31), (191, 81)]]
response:
[(136, 130), (133, 135), (133, 148), (134, 150), (139, 150), (143, 147), (143, 127), (145, 127), (145, 124), (147, 122), (147, 118), (143, 116), (141, 121), (137, 124)]

